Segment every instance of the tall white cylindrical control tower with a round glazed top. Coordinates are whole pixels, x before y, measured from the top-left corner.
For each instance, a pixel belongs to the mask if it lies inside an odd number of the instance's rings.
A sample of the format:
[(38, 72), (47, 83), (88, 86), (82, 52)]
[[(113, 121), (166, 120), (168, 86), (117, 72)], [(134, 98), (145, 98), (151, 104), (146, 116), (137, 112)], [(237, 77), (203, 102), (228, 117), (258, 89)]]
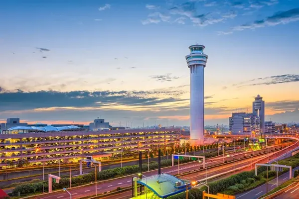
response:
[(203, 53), (203, 45), (189, 47), (186, 56), (190, 69), (190, 138), (201, 139), (204, 134), (204, 68), (208, 56)]

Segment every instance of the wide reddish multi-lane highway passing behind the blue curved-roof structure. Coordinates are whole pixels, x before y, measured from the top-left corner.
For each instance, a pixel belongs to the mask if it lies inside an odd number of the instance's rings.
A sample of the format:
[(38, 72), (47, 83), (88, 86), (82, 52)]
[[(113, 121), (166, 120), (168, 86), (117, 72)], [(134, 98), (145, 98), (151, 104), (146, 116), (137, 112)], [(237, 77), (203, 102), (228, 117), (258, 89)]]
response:
[[(288, 145), (288, 143), (283, 144), (283, 145)], [(277, 146), (272, 146), (272, 147), (274, 148)], [(261, 151), (264, 152), (265, 149), (262, 149)], [(248, 155), (250, 154), (250, 152), (246, 152), (246, 153), (248, 153)], [(255, 151), (254, 153), (258, 154), (259, 151)], [(269, 152), (269, 155), (271, 155), (273, 153), (274, 152), (272, 152), (272, 153)], [(235, 162), (235, 169), (244, 167), (251, 163), (251, 158), (244, 159), (244, 154), (245, 154), (245, 152), (238, 152), (236, 154), (234, 154), (234, 153), (232, 154), (232, 155), (234, 155), (234, 157), (236, 159), (243, 159), (243, 160)], [(254, 156), (252, 158), (252, 162), (257, 161), (262, 158), (265, 158), (266, 156), (267, 156), (267, 153), (264, 155), (258, 154), (257, 156)], [(225, 159), (228, 161), (229, 160), (231, 161), (233, 158), (225, 156)], [(220, 157), (216, 157), (216, 158), (207, 159), (206, 162), (208, 163), (208, 167), (211, 167), (213, 165), (222, 163), (223, 157), (220, 156)], [(200, 167), (202, 167), (202, 164), (200, 164), (198, 161), (194, 161), (194, 162), (180, 165), (179, 171), (181, 174), (183, 172), (188, 172), (188, 171), (193, 171), (195, 169), (199, 169)], [(207, 177), (211, 177), (215, 174), (223, 173), (225, 171), (230, 171), (232, 169), (233, 169), (233, 163), (228, 163), (228, 164), (221, 165), (221, 166), (218, 166), (215, 168), (210, 168), (210, 169), (208, 168), (207, 169)], [(173, 167), (162, 168), (161, 172), (168, 173), (171, 175), (176, 175), (178, 173), (178, 165), (175, 165)], [(157, 174), (157, 171), (154, 170), (154, 171), (144, 172), (143, 174), (145, 176), (151, 176), (151, 175)], [(131, 176), (126, 176), (126, 177), (122, 177), (122, 178), (98, 182), (97, 183), (97, 192), (98, 192), (98, 194), (102, 194), (105, 192), (115, 190), (118, 187), (122, 187), (122, 188), (129, 187), (132, 185), (132, 177), (137, 177), (137, 175), (131, 175)], [(205, 179), (205, 170), (202, 170), (200, 172), (196, 172), (193, 174), (188, 174), (181, 178), (188, 179), (188, 180), (204, 180)], [(92, 184), (90, 186), (73, 188), (69, 191), (72, 194), (72, 199), (77, 199), (77, 198), (95, 195), (95, 189), (96, 189), (95, 184)], [(112, 196), (109, 196), (109, 198), (112, 198)], [(54, 192), (54, 193), (50, 193), (50, 194), (38, 195), (38, 196), (34, 197), (34, 199), (69, 199), (69, 195), (64, 192)]]

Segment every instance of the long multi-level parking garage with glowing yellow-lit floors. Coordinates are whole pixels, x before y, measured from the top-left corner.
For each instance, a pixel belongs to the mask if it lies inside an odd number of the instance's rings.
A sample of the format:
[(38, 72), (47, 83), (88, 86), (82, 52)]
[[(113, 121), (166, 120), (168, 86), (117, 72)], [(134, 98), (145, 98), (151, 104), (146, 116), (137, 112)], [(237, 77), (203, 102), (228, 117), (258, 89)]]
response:
[(179, 135), (180, 129), (87, 131), (75, 126), (14, 127), (0, 134), (0, 166), (12, 166), (19, 160), (28, 165), (54, 164), (77, 162), (85, 156), (103, 158), (155, 148), (172, 149), (179, 144)]

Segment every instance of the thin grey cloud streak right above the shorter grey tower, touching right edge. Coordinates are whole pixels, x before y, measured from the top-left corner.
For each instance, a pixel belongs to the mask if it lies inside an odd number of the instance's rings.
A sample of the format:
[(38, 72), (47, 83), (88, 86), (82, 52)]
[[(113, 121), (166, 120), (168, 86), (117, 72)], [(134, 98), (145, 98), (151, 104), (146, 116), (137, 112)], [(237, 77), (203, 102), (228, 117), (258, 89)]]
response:
[[(250, 84), (250, 82), (255, 82), (255, 83)], [(270, 76), (265, 78), (257, 78), (257, 79), (249, 80), (247, 82), (239, 83), (235, 86), (240, 88), (246, 86), (272, 85), (272, 84), (283, 84), (283, 83), (290, 83), (290, 82), (299, 82), (299, 75), (286, 74), (286, 75)]]

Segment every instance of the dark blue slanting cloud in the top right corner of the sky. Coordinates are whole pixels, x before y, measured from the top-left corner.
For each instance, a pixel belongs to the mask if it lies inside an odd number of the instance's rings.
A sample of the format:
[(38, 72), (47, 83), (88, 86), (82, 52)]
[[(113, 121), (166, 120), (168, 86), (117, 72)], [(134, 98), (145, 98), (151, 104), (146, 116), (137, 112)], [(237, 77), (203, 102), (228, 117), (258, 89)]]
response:
[(255, 29), (265, 26), (275, 26), (278, 24), (287, 24), (299, 20), (299, 8), (280, 11), (265, 19), (256, 20), (253, 23), (235, 26), (232, 31), (242, 31), (246, 29)]

